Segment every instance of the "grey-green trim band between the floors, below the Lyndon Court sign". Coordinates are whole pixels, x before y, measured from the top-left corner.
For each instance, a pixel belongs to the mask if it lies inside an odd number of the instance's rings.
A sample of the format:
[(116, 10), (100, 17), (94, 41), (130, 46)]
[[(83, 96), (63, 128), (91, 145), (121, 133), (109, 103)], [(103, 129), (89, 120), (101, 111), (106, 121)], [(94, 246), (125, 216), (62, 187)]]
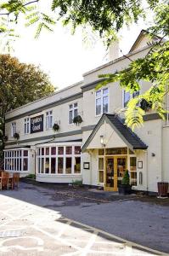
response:
[[(48, 140), (48, 139), (52, 140), (53, 137), (54, 138), (56, 138), (56, 137), (66, 137), (66, 136), (77, 135), (77, 134), (82, 134), (82, 131), (77, 130), (77, 131), (63, 132), (63, 133), (48, 135), (48, 136), (43, 136), (43, 137), (33, 137), (33, 138), (30, 138), (30, 139), (18, 141), (18, 143), (31, 143), (31, 142), (37, 142), (37, 141), (42, 141), (42, 140)], [(51, 141), (51, 143), (52, 143), (52, 141)], [(6, 146), (15, 145), (15, 144), (16, 144), (16, 142), (6, 143)]]

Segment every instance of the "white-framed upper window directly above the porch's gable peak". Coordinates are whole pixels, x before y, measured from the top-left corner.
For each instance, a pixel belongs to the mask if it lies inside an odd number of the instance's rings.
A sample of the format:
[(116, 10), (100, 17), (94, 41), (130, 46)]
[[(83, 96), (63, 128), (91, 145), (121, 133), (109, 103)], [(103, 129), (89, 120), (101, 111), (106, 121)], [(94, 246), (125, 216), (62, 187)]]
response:
[(108, 88), (96, 91), (96, 115), (108, 113), (109, 90)]

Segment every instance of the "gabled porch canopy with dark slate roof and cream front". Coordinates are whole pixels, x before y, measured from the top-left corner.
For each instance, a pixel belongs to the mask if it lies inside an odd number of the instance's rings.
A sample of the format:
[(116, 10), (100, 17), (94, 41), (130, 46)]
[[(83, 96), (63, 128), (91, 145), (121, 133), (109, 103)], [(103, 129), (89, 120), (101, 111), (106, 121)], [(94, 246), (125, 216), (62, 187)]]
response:
[[(101, 144), (100, 137), (103, 138)], [(131, 150), (147, 149), (148, 146), (130, 129), (124, 125), (122, 119), (116, 114), (104, 113), (99, 123), (93, 129), (82, 152), (93, 148), (124, 148)]]

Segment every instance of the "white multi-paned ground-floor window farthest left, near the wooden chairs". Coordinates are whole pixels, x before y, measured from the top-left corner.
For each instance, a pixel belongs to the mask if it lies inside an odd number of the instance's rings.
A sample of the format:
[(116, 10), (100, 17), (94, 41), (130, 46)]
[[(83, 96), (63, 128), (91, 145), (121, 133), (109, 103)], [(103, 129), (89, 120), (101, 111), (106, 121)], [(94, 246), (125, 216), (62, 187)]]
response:
[(4, 151), (5, 171), (26, 172), (29, 169), (28, 149), (14, 149)]

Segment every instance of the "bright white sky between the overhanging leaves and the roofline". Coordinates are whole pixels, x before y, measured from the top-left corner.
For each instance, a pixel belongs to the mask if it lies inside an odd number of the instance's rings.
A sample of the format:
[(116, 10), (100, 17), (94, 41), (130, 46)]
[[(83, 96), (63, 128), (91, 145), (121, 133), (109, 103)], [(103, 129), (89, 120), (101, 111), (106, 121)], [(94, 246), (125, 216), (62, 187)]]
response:
[[(123, 54), (127, 54), (142, 28), (145, 25), (140, 22), (121, 32)], [(24, 23), (20, 24), (20, 38), (13, 45), (12, 55), (21, 62), (40, 66), (58, 89), (81, 81), (83, 73), (106, 62), (103, 43), (97, 40), (92, 45), (85, 44), (81, 29), (71, 35), (68, 28), (58, 24), (54, 32), (42, 31), (38, 39), (34, 35), (35, 27), (25, 28)]]

